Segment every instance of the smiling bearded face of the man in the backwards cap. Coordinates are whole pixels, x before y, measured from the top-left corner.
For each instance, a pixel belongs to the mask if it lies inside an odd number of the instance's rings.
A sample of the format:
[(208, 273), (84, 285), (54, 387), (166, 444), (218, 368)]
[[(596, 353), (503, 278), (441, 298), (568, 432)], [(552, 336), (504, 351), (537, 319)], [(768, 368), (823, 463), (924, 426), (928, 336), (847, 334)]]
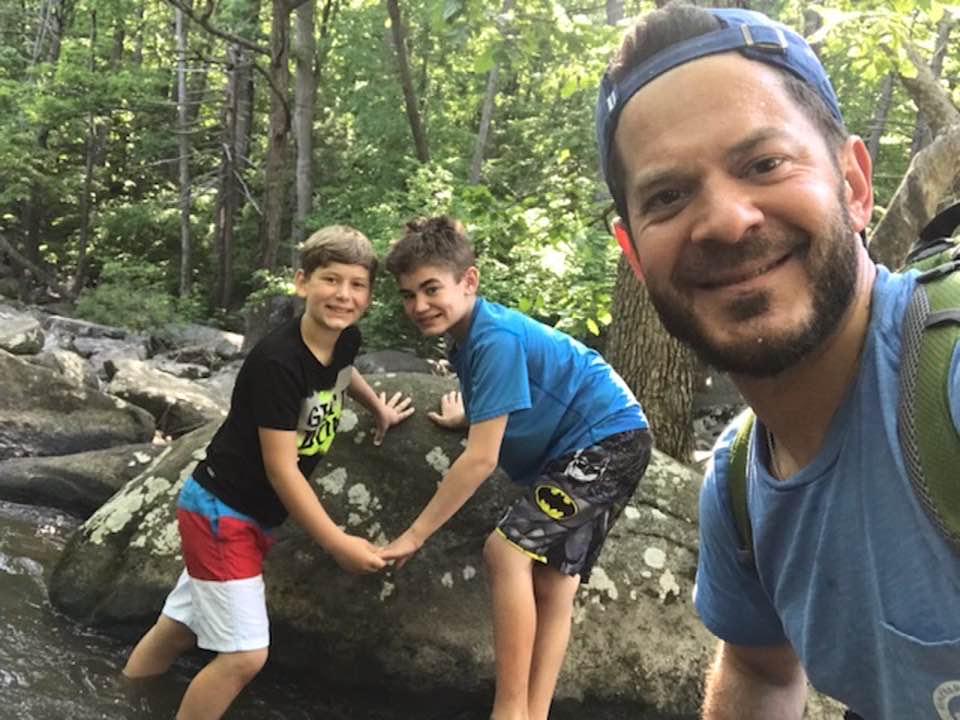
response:
[(735, 53), (675, 68), (630, 100), (615, 142), (634, 247), (672, 335), (753, 376), (830, 336), (863, 227), (848, 212), (850, 151), (836, 159), (775, 70)]

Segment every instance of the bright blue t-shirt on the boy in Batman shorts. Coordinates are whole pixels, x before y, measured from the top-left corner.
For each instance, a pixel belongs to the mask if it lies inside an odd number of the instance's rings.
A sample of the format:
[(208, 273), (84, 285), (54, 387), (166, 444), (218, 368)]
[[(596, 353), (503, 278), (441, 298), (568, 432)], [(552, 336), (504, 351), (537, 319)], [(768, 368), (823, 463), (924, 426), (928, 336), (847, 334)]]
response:
[(450, 362), (471, 425), (509, 415), (500, 466), (514, 482), (530, 484), (561, 455), (647, 427), (640, 403), (599, 353), (483, 298)]

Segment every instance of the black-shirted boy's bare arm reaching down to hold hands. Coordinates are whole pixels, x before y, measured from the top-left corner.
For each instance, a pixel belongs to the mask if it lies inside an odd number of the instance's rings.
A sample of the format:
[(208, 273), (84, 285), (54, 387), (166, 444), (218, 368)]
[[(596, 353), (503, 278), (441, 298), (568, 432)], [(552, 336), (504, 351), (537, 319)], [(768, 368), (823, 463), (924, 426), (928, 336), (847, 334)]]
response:
[(348, 535), (323, 509), (297, 466), (297, 434), (293, 430), (257, 428), (267, 478), (293, 519), (348, 572), (374, 572), (384, 566), (377, 546)]

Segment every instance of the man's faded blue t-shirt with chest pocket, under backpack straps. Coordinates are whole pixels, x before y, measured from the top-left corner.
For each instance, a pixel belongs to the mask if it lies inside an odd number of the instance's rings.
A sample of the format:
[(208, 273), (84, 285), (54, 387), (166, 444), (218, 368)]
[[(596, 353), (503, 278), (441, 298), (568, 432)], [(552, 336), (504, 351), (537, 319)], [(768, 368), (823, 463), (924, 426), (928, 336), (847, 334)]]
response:
[[(735, 644), (789, 642), (813, 686), (867, 720), (960, 717), (960, 557), (918, 503), (897, 437), (901, 321), (914, 284), (915, 273), (879, 269), (859, 373), (809, 465), (771, 477), (756, 423), (747, 470), (755, 570), (736, 559), (726, 482), (735, 426), (700, 494), (704, 624)], [(953, 367), (947, 392), (960, 425), (956, 358)]]

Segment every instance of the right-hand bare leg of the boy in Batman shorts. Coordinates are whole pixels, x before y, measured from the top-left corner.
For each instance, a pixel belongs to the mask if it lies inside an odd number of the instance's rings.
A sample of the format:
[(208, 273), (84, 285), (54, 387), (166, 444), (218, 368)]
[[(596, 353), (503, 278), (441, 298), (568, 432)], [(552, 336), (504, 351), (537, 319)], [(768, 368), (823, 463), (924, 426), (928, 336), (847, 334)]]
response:
[(547, 720), (550, 702), (567, 652), (573, 599), (579, 575), (564, 575), (539, 563), (533, 566), (537, 634), (530, 666), (529, 720)]

